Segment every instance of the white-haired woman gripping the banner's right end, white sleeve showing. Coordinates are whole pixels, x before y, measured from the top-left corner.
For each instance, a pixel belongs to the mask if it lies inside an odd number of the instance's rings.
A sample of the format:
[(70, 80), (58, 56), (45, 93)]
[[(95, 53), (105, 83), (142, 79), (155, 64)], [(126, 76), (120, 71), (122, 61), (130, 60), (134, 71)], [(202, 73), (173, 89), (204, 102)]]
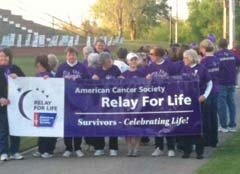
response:
[[(199, 89), (200, 89), (200, 96), (198, 97), (198, 101), (201, 103), (201, 108), (203, 109), (204, 102), (206, 101), (207, 97), (211, 93), (212, 90), (212, 80), (210, 74), (208, 73), (207, 68), (199, 64), (199, 56), (194, 49), (189, 49), (184, 51), (183, 53), (183, 62), (184, 67), (181, 70), (181, 74), (183, 75), (193, 75), (199, 78)], [(202, 117), (204, 118), (205, 115)], [(205, 128), (204, 122), (203, 129)], [(204, 132), (204, 130), (203, 130)], [(204, 137), (203, 135), (192, 135), (192, 136), (184, 136), (183, 137), (183, 156), (182, 158), (189, 158), (192, 152), (192, 145), (196, 145), (196, 153), (197, 159), (203, 159), (204, 153)]]

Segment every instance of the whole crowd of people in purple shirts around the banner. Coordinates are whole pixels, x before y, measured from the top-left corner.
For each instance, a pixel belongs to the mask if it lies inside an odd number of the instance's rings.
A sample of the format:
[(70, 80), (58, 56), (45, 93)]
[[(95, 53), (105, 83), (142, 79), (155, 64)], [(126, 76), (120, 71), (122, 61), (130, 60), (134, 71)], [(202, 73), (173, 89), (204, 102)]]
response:
[[(203, 132), (192, 136), (155, 137), (153, 157), (164, 154), (166, 141), (167, 155), (175, 156), (175, 150), (183, 152), (182, 158), (189, 158), (192, 151), (196, 151), (196, 158), (202, 159), (204, 147), (217, 147), (218, 131), (223, 133), (236, 131), (235, 90), (237, 67), (240, 65), (240, 51), (234, 44), (229, 50), (228, 41), (220, 39), (215, 44), (214, 35), (209, 35), (199, 44), (171, 45), (169, 49), (159, 46), (143, 46), (135, 52), (127, 48), (119, 48), (118, 58), (112, 54), (103, 40), (96, 41), (94, 47), (84, 47), (83, 61), (78, 60), (78, 50), (74, 47), (66, 49), (66, 61), (58, 66), (55, 55), (41, 55), (36, 57), (36, 77), (65, 79), (113, 79), (113, 78), (162, 78), (171, 75), (191, 74), (199, 78)], [(12, 63), (12, 52), (9, 48), (0, 50), (0, 154), (1, 160), (20, 160), (24, 157), (19, 153), (20, 138), (9, 135), (7, 105), (7, 77), (17, 78), (25, 76), (23, 71)], [(228, 113), (229, 112), (229, 113)], [(229, 117), (228, 117), (229, 115)], [(219, 121), (218, 121), (219, 118)], [(69, 158), (73, 153), (83, 157), (81, 148), (82, 137), (64, 138), (65, 151), (63, 157)], [(109, 137), (109, 155), (118, 155), (118, 137)], [(39, 137), (38, 150), (34, 157), (51, 158), (54, 154), (57, 138)], [(105, 154), (104, 137), (84, 137), (85, 143), (94, 149), (94, 156)], [(140, 155), (140, 143), (146, 143), (148, 137), (126, 137), (127, 156)], [(9, 144), (10, 143), (10, 144)]]

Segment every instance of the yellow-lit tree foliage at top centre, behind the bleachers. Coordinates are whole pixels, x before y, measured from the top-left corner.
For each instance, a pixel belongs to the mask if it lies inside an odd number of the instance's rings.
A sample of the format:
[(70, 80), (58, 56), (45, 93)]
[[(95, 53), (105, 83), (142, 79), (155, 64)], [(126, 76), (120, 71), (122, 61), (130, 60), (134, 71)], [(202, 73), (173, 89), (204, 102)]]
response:
[(98, 0), (92, 6), (92, 12), (113, 35), (129, 34), (135, 39), (156, 25), (157, 18), (168, 16), (168, 6), (166, 0), (160, 4), (155, 0)]

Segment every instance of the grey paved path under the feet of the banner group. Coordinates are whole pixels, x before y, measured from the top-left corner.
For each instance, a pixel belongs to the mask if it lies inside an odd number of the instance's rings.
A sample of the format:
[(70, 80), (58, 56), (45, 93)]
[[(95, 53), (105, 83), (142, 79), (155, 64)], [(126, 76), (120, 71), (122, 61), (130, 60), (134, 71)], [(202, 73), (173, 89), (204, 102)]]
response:
[[(236, 101), (240, 106), (240, 90), (237, 90)], [(237, 107), (238, 109), (238, 107)], [(240, 114), (238, 113), (238, 118)], [(239, 120), (239, 119), (238, 119)], [(220, 134), (220, 145), (232, 133)], [(148, 146), (141, 146), (141, 156), (126, 157), (126, 145), (120, 140), (120, 154), (118, 157), (93, 157), (87, 151), (84, 158), (61, 157), (64, 150), (63, 142), (57, 143), (56, 155), (52, 159), (39, 159), (31, 156), (31, 151), (25, 153), (25, 160), (0, 162), (0, 174), (193, 174), (196, 169), (208, 161), (214, 152), (213, 148), (206, 148), (205, 158), (197, 160), (195, 154), (190, 159), (182, 159), (181, 153), (169, 158), (166, 155), (151, 157), (154, 149), (153, 141)]]

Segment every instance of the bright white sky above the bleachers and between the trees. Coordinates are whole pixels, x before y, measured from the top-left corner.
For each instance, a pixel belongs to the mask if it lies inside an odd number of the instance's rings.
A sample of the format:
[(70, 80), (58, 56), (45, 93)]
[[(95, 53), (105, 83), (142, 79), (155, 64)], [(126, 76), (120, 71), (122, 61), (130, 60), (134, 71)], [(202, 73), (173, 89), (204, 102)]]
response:
[[(90, 6), (96, 0), (0, 0), (0, 8), (9, 9), (24, 19), (51, 26), (52, 19), (45, 13), (80, 25), (90, 17)], [(168, 0), (172, 15), (176, 16), (178, 5), (179, 18), (187, 18), (187, 0)], [(176, 3), (177, 2), (177, 3)]]

